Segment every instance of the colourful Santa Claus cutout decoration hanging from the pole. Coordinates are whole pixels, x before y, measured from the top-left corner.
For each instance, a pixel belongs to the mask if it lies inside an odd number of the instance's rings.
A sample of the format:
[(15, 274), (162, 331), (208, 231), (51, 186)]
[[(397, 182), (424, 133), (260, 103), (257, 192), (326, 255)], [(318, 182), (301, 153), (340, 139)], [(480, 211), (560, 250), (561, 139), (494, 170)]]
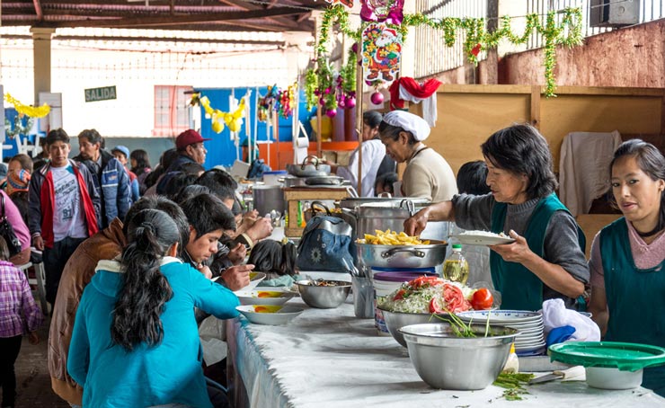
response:
[(384, 23), (371, 23), (362, 32), (362, 66), (365, 81), (390, 82), (399, 75), (402, 34)]

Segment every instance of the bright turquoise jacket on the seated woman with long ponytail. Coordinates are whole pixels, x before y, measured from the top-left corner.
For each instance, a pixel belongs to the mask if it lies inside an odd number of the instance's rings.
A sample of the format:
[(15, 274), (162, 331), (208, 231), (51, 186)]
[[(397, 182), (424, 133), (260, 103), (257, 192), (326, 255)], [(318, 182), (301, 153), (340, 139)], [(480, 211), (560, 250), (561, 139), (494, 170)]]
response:
[(220, 319), (235, 317), (238, 298), (175, 258), (161, 271), (173, 289), (160, 316), (163, 341), (127, 351), (111, 341), (113, 308), (122, 286), (120, 263), (99, 262), (76, 311), (67, 370), (84, 387), (83, 406), (146, 407), (180, 403), (211, 407), (194, 307)]

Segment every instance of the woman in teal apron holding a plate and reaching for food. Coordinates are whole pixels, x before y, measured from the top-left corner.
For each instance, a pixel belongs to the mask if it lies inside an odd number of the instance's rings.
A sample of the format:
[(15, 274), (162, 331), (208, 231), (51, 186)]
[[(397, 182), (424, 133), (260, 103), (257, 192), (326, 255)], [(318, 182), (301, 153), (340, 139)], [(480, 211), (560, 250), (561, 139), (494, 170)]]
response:
[(418, 235), (428, 221), (455, 221), (466, 230), (510, 235), (514, 243), (490, 246), (501, 308), (538, 310), (555, 297), (574, 306), (589, 281), (584, 235), (554, 194), (556, 177), (545, 137), (532, 126), (515, 125), (494, 133), (481, 148), (492, 192), (456, 195), (423, 208), (404, 222), (404, 231)]

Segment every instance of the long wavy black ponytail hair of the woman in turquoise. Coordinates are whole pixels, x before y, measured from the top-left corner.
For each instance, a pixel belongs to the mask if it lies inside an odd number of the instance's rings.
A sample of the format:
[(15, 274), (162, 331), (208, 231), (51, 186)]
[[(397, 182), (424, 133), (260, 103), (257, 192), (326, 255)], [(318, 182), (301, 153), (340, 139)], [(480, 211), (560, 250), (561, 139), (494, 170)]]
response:
[(164, 254), (180, 240), (178, 227), (164, 211), (144, 209), (131, 218), (129, 244), (122, 251), (122, 288), (113, 309), (111, 340), (125, 350), (164, 339), (160, 315), (173, 297), (169, 281), (160, 271)]

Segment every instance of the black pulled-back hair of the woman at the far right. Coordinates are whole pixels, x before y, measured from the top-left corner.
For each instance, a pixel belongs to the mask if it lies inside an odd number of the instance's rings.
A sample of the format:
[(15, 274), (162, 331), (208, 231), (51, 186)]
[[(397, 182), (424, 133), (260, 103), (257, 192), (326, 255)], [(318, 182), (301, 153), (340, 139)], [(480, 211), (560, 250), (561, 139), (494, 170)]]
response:
[[(609, 164), (610, 178), (612, 177), (612, 168), (614, 167), (616, 160), (626, 155), (633, 156), (635, 162), (640, 167), (640, 170), (646, 173), (654, 182), (665, 180), (665, 156), (662, 155), (661, 151), (658, 150), (656, 146), (641, 139), (626, 140), (616, 149), (614, 158)], [(614, 195), (613, 200), (616, 205), (616, 198)], [(640, 236), (651, 236), (662, 229), (665, 229), (665, 190), (661, 191), (661, 210), (658, 213), (658, 223), (652, 231), (647, 233), (638, 231), (637, 233)]]

